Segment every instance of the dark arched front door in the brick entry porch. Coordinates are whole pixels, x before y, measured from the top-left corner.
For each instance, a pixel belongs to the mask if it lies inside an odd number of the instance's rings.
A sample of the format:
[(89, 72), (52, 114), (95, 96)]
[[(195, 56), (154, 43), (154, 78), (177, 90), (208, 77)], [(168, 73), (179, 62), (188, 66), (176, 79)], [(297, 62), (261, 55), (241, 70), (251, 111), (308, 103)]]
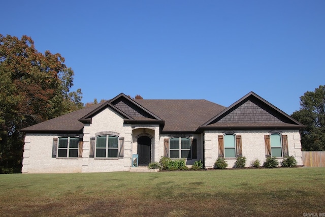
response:
[(149, 165), (151, 155), (151, 139), (142, 136), (138, 139), (139, 165)]

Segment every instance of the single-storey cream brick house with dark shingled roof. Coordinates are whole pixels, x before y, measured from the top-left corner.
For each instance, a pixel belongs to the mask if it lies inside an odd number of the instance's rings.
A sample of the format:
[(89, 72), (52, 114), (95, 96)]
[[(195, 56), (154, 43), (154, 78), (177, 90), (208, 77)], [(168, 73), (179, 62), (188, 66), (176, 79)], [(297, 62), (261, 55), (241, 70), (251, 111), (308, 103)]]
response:
[(269, 156), (279, 162), (294, 156), (302, 165), (303, 127), (254, 92), (229, 107), (120, 94), (23, 129), (22, 172), (129, 171), (161, 156), (184, 158), (188, 166), (201, 159), (206, 168), (218, 157), (233, 167), (239, 156), (246, 157), (246, 167)]

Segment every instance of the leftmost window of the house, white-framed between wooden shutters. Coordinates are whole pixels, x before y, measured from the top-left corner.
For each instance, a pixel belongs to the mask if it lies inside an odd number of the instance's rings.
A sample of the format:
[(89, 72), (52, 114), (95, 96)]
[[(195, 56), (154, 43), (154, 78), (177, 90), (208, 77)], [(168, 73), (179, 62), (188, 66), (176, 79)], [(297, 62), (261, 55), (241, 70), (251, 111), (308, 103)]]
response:
[(78, 158), (79, 138), (60, 137), (57, 148), (58, 158)]

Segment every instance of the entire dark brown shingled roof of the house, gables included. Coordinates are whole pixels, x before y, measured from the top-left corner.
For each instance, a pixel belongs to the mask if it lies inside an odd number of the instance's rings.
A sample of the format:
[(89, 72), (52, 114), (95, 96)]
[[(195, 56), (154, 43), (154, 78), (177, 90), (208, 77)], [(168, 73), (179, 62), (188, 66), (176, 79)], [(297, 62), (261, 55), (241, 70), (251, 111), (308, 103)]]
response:
[(111, 107), (129, 123), (158, 123), (163, 133), (200, 132), (204, 129), (303, 128), (300, 122), (254, 92), (228, 108), (207, 100), (131, 100), (120, 94), (110, 101), (22, 129), (23, 132), (82, 133), (84, 123)]

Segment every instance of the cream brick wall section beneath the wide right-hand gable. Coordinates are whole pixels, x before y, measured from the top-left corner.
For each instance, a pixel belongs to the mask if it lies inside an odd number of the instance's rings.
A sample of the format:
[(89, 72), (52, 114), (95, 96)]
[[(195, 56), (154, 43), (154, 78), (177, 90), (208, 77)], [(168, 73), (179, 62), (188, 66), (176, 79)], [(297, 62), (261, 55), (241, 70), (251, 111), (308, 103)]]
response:
[[(262, 166), (266, 160), (264, 135), (270, 135), (269, 131), (236, 131), (235, 134), (242, 136), (243, 157), (246, 157), (247, 159), (245, 166), (249, 167), (251, 162), (255, 159), (261, 161)], [(289, 156), (294, 156), (298, 162), (298, 165), (303, 165), (299, 131), (281, 131), (281, 134), (288, 136)], [(212, 168), (214, 162), (218, 158), (218, 135), (224, 134), (221, 131), (205, 131), (205, 165), (207, 168)], [(225, 160), (228, 163), (228, 168), (232, 168), (236, 162), (236, 159)], [(278, 162), (281, 163), (282, 159), (278, 159)]]

